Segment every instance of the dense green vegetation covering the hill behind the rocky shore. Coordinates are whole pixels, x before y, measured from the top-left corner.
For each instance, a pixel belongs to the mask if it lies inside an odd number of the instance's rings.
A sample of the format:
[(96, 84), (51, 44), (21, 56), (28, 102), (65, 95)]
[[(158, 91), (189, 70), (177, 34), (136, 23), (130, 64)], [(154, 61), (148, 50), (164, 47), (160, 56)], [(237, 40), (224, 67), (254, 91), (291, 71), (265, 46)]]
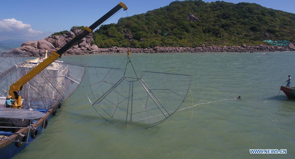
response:
[[(189, 14), (199, 21), (189, 21)], [(294, 26), (295, 14), (254, 3), (174, 1), (160, 9), (121, 18), (117, 24), (102, 25), (93, 33), (92, 43), (100, 48), (148, 48), (196, 47), (204, 43), (207, 46), (256, 45), (264, 44), (266, 39), (294, 42)], [(71, 30), (78, 28), (74, 26)]]

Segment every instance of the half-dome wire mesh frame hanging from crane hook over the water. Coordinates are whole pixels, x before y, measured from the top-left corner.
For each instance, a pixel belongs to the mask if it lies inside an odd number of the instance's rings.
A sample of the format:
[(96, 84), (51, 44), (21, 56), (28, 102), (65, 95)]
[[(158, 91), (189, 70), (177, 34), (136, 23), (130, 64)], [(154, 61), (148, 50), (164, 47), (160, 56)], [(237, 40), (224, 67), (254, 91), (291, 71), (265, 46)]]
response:
[(96, 112), (110, 123), (155, 126), (178, 110), (191, 85), (190, 75), (134, 74), (126, 76), (126, 69), (120, 68), (87, 67), (88, 78), (82, 82), (85, 92)]

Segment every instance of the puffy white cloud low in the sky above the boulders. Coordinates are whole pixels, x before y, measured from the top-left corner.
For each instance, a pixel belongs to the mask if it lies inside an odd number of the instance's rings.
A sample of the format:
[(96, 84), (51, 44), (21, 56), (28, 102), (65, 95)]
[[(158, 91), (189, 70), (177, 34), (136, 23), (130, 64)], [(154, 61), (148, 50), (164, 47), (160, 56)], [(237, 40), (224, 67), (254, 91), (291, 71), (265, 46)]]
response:
[(13, 40), (37, 40), (49, 36), (51, 33), (33, 30), (30, 24), (24, 24), (14, 18), (0, 20), (0, 41)]

